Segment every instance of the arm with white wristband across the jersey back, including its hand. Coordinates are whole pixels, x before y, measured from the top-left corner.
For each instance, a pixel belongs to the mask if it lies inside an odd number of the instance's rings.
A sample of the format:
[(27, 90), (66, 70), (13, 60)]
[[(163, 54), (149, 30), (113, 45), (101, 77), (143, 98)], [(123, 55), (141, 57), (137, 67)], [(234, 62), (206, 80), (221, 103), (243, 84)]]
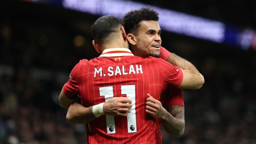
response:
[(99, 105), (84, 107), (78, 102), (70, 105), (67, 111), (66, 120), (68, 124), (85, 124), (95, 120), (100, 115), (127, 116), (131, 100), (127, 97), (114, 97), (102, 104), (102, 112), (98, 112)]

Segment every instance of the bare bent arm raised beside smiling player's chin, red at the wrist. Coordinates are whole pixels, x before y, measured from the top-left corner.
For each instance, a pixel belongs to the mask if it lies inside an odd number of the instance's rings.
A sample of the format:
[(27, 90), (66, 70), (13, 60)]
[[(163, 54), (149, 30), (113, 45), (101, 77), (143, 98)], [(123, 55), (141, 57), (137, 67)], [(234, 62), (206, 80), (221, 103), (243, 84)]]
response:
[(183, 73), (183, 81), (179, 88), (199, 89), (205, 83), (204, 76), (198, 72), (195, 66), (184, 58), (170, 53), (164, 47), (160, 49), (161, 58), (178, 66)]

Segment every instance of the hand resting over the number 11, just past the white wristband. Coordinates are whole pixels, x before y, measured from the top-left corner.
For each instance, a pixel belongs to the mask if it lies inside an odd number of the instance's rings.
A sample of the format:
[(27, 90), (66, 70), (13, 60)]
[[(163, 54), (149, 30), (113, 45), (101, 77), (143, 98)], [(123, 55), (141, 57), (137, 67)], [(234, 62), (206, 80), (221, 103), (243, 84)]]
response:
[(127, 97), (114, 97), (103, 104), (103, 112), (104, 115), (127, 116), (131, 106)]

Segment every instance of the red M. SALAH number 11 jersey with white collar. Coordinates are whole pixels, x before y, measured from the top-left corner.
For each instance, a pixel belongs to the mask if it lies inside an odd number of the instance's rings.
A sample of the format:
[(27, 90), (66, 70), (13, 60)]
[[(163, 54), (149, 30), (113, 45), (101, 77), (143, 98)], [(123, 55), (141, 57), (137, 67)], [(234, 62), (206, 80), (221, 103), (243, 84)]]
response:
[(145, 113), (146, 94), (156, 100), (166, 84), (177, 87), (183, 74), (161, 58), (133, 56), (127, 48), (106, 49), (99, 58), (80, 60), (64, 85), (67, 98), (78, 94), (84, 106), (128, 97), (126, 117), (102, 115), (87, 125), (89, 144), (156, 144), (156, 119)]

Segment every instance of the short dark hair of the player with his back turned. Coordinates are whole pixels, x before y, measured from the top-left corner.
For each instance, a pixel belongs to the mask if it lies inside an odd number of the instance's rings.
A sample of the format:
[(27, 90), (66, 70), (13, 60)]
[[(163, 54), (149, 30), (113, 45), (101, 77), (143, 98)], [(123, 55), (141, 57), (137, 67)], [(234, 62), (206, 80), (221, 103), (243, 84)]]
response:
[(119, 36), (117, 32), (121, 27), (122, 23), (117, 17), (111, 15), (102, 16), (93, 24), (92, 35), (96, 42), (107, 43)]

